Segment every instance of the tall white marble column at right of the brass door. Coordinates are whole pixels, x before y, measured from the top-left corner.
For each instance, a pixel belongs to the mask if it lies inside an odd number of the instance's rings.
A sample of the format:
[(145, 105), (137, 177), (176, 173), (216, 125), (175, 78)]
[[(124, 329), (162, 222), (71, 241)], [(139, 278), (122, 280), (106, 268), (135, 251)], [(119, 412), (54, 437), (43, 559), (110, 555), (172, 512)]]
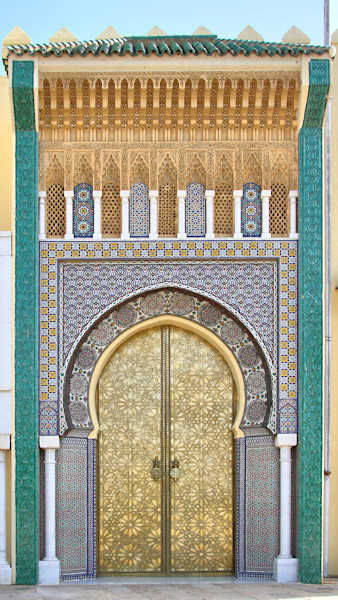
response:
[(274, 561), (274, 578), (286, 583), (297, 581), (298, 562), (291, 554), (291, 448), (297, 435), (279, 433), (275, 444), (280, 452), (280, 553)]

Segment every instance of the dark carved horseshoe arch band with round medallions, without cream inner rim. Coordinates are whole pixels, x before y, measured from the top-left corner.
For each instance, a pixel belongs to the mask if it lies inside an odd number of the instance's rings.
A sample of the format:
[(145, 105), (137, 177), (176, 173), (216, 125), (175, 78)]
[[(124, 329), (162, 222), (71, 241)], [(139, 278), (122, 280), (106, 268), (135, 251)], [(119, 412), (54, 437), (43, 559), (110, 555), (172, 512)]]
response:
[(98, 360), (121, 334), (138, 323), (173, 315), (193, 321), (216, 335), (239, 365), (244, 386), (240, 428), (269, 427), (274, 431), (276, 403), (272, 376), (257, 340), (223, 306), (181, 289), (147, 292), (115, 306), (97, 320), (77, 345), (68, 363), (60, 407), (60, 434), (69, 429), (93, 430), (89, 388)]

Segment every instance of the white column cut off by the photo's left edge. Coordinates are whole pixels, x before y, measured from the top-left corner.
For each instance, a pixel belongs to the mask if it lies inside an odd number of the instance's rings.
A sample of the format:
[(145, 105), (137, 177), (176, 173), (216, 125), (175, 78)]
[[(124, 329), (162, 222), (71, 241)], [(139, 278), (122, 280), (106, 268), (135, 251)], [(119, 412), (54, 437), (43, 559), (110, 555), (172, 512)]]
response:
[(0, 585), (12, 583), (12, 569), (7, 561), (6, 536), (6, 458), (10, 449), (10, 436), (0, 435)]

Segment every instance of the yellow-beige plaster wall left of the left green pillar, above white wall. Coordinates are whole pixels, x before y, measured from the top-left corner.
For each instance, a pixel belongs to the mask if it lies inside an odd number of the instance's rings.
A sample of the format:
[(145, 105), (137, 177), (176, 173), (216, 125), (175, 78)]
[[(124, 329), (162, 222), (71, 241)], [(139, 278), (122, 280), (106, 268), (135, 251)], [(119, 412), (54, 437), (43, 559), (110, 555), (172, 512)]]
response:
[(0, 231), (12, 229), (13, 140), (7, 76), (0, 77)]

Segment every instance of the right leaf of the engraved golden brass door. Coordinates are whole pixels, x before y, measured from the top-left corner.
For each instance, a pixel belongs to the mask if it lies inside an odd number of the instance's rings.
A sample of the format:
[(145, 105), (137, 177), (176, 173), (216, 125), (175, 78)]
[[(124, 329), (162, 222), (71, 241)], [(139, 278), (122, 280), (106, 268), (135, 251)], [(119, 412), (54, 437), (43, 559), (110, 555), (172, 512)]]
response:
[(170, 331), (171, 570), (232, 571), (233, 382), (206, 341)]

